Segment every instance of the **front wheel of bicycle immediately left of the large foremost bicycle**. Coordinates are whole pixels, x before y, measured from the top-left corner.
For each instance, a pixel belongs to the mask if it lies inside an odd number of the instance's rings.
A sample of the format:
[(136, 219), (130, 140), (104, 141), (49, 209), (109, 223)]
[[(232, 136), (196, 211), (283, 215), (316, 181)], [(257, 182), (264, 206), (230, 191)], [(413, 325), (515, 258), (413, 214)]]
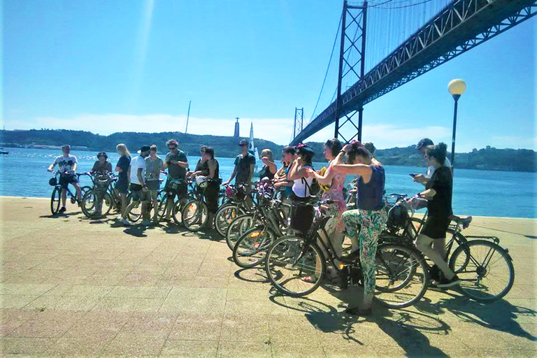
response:
[(275, 238), (276, 234), (266, 225), (259, 225), (246, 231), (233, 248), (233, 261), (242, 268), (262, 264), (266, 258), (266, 251)]

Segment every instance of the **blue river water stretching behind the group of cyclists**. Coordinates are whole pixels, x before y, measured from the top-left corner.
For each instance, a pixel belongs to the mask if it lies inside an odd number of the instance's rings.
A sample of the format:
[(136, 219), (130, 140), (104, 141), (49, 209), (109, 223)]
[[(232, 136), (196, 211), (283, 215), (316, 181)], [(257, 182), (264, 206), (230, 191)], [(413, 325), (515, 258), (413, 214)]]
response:
[[(51, 176), (46, 170), (61, 152), (56, 150), (34, 150), (5, 148), (8, 155), (0, 155), (0, 195), (48, 197), (52, 188), (48, 185)], [(78, 171), (90, 171), (96, 153), (73, 150), (78, 157)], [(113, 167), (118, 155), (110, 153)], [(164, 157), (164, 156), (162, 156)], [(234, 158), (217, 158), (220, 176), (229, 179), (233, 171)], [(197, 156), (190, 156), (189, 163), (195, 165)], [(259, 168), (262, 167), (259, 161)], [(326, 163), (314, 164), (316, 169)], [(409, 173), (424, 173), (421, 168), (411, 166), (385, 166), (386, 192), (416, 194), (423, 186), (412, 181)], [(83, 178), (83, 183), (89, 182)], [(482, 215), (496, 217), (537, 217), (537, 173), (478, 171), (456, 169), (453, 182), (453, 211), (457, 215)]]

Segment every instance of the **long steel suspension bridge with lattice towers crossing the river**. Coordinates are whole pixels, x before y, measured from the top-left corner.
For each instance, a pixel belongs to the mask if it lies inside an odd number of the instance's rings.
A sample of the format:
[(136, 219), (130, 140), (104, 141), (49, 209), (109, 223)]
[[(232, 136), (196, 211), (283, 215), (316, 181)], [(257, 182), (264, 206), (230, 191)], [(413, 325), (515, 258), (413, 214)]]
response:
[(332, 123), (361, 140), (366, 103), (536, 14), (535, 0), (345, 0), (317, 104), (308, 123), (295, 109), (290, 144)]

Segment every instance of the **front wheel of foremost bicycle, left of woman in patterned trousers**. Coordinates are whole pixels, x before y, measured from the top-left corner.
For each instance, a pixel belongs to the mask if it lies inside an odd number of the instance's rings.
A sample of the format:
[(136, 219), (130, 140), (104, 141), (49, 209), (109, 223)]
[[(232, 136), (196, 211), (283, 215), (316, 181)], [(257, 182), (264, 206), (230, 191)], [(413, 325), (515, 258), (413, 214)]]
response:
[[(306, 296), (321, 285), (326, 261), (316, 243), (307, 243), (299, 236), (279, 238), (266, 253), (268, 280), (283, 294)], [(311, 280), (306, 280), (306, 278)]]

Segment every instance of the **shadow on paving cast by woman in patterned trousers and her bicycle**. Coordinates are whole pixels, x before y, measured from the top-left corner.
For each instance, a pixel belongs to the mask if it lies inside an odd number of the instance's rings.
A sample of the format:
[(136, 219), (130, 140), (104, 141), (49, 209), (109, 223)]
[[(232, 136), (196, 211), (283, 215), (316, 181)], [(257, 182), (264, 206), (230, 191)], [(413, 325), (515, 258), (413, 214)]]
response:
[(445, 336), (449, 334), (451, 328), (443, 320), (435, 315), (416, 312), (410, 309), (389, 310), (378, 303), (373, 303), (373, 315), (369, 317), (358, 317), (349, 315), (345, 309), (349, 306), (357, 306), (361, 301), (362, 291), (359, 287), (351, 287), (343, 291), (328, 291), (341, 300), (338, 304), (328, 304), (308, 297), (292, 299), (294, 303), (289, 303), (287, 296), (282, 296), (275, 289), (269, 299), (280, 306), (287, 307), (288, 310), (303, 312), (308, 322), (315, 328), (326, 333), (338, 333), (347, 341), (364, 345), (368, 336), (364, 334), (364, 329), (360, 329), (360, 324), (376, 324), (387, 337), (403, 348), (407, 357), (448, 357), (441, 348), (431, 345), (427, 334), (437, 334)]

